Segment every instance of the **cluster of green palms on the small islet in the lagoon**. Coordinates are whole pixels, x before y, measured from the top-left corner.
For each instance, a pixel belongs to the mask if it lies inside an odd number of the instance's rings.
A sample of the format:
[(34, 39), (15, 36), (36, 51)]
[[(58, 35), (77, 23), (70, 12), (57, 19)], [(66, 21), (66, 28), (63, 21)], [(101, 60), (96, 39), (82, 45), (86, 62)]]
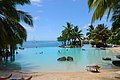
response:
[(66, 44), (66, 42), (68, 42), (68, 45), (77, 39), (79, 42), (81, 41), (83, 34), (81, 34), (82, 30), (79, 30), (78, 26), (74, 26), (73, 24), (67, 22), (67, 25), (63, 27), (64, 30), (62, 31), (62, 34), (57, 38), (58, 41), (63, 42), (63, 44)]

